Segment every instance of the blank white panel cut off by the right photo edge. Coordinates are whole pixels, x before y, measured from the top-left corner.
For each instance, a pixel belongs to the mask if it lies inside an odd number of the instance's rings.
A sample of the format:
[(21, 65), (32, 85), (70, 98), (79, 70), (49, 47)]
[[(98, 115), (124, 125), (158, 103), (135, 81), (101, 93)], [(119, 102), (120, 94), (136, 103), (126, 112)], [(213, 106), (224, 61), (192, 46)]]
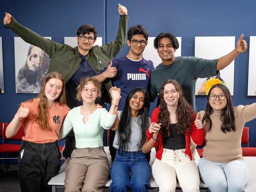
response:
[(256, 36), (250, 36), (248, 96), (256, 96)]

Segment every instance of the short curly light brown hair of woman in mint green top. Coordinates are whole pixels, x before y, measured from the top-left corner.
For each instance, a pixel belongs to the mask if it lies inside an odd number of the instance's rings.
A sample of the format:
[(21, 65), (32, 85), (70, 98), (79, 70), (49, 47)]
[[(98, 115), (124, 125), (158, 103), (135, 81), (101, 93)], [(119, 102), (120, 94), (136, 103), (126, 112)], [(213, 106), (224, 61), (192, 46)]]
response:
[(91, 82), (93, 83), (93, 85), (95, 85), (96, 87), (96, 91), (97, 91), (97, 98), (100, 98), (101, 96), (101, 91), (100, 91), (100, 84), (98, 83), (98, 81), (92, 77), (87, 77), (87, 78), (83, 78), (80, 82), (80, 84), (78, 85), (78, 87), (76, 88), (76, 99), (78, 101), (82, 101), (82, 96), (81, 96), (81, 92), (82, 92), (82, 89), (85, 85), (88, 85), (88, 83)]

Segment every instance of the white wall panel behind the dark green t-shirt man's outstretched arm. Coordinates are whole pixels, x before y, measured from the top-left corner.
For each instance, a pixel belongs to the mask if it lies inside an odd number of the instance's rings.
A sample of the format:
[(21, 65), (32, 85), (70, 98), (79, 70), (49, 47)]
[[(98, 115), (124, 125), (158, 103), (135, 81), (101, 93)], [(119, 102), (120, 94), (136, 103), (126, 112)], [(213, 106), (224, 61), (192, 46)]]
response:
[[(221, 43), (220, 43), (221, 42)], [(235, 36), (231, 37), (195, 37), (195, 57), (203, 59), (218, 59), (230, 53), (235, 48)], [(221, 45), (221, 46), (220, 46)], [(234, 61), (220, 71), (221, 78), (225, 81), (231, 95), (234, 94)], [(201, 88), (206, 78), (197, 79), (195, 92)]]

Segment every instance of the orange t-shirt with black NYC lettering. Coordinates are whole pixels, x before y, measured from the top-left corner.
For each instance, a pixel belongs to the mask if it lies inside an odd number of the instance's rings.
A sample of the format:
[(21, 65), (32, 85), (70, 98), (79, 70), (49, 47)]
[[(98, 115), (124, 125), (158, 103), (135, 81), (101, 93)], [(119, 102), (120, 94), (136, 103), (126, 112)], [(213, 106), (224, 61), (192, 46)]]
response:
[(38, 105), (38, 99), (33, 99), (30, 102), (24, 102), (21, 104), (21, 107), (29, 109), (28, 116), (26, 118), (20, 118), (20, 122), (24, 125), (25, 133), (22, 140), (35, 143), (54, 142), (59, 139), (60, 127), (70, 109), (67, 105), (59, 105), (59, 102), (54, 102), (52, 106), (47, 107), (46, 112), (48, 116), (48, 125), (51, 127), (51, 129), (50, 131), (45, 131), (42, 130), (39, 124), (36, 122), (36, 119), (39, 116), (37, 108)]

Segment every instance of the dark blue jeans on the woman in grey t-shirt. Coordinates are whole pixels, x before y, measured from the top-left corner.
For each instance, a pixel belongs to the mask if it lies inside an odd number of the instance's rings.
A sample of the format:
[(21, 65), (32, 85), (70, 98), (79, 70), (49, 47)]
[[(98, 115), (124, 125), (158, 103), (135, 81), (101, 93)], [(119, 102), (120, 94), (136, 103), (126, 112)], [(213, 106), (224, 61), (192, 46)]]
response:
[(112, 183), (109, 188), (112, 192), (124, 192), (128, 189), (134, 192), (147, 192), (151, 167), (141, 150), (135, 152), (118, 150), (110, 168), (110, 175)]

